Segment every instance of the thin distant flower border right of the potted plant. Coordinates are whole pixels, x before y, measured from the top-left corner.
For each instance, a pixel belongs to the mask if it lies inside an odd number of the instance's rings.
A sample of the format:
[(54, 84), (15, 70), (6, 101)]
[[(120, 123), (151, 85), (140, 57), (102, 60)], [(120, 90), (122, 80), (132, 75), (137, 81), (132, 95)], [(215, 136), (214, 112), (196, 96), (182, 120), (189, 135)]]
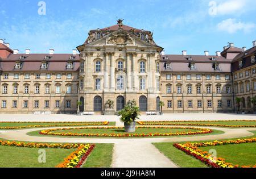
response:
[[(178, 120), (178, 121), (163, 120), (163, 121), (139, 121), (137, 123), (140, 125), (146, 125), (146, 126), (256, 127), (256, 125), (177, 123), (177, 122), (234, 122), (234, 121), (256, 122), (256, 120)], [(170, 123), (170, 122), (172, 122), (172, 123)]]

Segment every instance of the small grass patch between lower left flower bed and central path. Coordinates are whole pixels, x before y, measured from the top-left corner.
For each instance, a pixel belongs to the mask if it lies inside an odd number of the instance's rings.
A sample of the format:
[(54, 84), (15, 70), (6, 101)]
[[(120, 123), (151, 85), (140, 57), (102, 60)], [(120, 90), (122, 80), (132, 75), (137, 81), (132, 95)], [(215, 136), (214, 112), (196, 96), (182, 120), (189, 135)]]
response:
[(84, 168), (110, 168), (114, 144), (96, 144), (92, 153), (82, 165)]

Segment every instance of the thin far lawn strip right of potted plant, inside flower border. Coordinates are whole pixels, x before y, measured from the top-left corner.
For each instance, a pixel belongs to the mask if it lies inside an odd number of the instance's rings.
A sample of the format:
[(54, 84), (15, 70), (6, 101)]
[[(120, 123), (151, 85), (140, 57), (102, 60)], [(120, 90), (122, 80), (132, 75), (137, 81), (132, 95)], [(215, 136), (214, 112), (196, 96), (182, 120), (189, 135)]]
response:
[(230, 121), (213, 121), (213, 122), (204, 122), (204, 121), (189, 121), (189, 122), (177, 122), (177, 121), (168, 121), (168, 122), (143, 122), (143, 125), (147, 125), (148, 123), (164, 123), (164, 124), (221, 124), (221, 125), (232, 125), (232, 126), (237, 126), (237, 125), (256, 125), (256, 121), (235, 121), (235, 120), (230, 120)]

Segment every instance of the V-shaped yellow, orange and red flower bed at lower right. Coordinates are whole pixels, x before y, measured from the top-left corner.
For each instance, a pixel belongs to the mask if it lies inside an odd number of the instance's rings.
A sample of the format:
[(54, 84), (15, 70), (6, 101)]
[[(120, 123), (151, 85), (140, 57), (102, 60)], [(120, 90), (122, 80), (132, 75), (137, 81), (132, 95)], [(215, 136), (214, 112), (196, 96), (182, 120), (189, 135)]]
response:
[[(224, 141), (213, 141), (204, 143), (185, 143), (185, 144), (174, 144), (174, 147), (180, 149), (187, 153), (187, 155), (194, 156), (196, 159), (201, 160), (203, 163), (212, 166), (213, 168), (237, 168), (239, 165), (233, 165), (232, 163), (227, 163), (225, 159), (220, 157), (215, 158), (206, 151), (202, 151), (198, 147), (214, 146), (214, 145), (227, 145), (227, 144), (241, 144), (241, 143), (254, 143), (256, 138), (251, 139), (237, 139), (237, 140), (224, 140)], [(242, 168), (253, 167), (254, 166), (241, 166)]]

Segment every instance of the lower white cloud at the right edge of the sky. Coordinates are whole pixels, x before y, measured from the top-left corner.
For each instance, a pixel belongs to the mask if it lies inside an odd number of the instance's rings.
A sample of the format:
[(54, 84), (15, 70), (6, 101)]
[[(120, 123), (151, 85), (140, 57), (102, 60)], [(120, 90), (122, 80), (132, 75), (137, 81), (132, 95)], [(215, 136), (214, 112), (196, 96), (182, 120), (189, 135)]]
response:
[(243, 23), (237, 22), (236, 19), (226, 19), (217, 24), (217, 29), (219, 31), (228, 32), (229, 34), (234, 34), (237, 31), (250, 32), (255, 28), (254, 23)]

